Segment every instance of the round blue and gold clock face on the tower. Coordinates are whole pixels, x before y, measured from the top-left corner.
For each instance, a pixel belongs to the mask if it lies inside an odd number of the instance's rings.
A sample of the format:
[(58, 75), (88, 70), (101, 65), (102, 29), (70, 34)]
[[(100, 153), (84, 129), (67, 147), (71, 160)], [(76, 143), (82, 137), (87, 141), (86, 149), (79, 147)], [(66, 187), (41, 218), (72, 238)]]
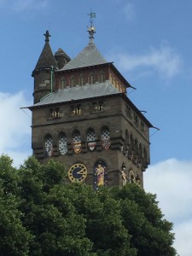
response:
[(84, 182), (87, 177), (87, 168), (83, 164), (74, 164), (68, 170), (68, 178), (71, 182)]

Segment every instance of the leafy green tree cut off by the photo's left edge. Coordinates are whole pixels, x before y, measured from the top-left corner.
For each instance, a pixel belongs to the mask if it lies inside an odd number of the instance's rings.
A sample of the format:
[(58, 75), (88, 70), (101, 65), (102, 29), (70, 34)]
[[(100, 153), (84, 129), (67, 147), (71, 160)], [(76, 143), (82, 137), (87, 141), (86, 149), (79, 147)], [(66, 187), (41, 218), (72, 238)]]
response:
[(19, 176), (6, 155), (0, 157), (0, 254), (28, 255), (32, 236), (22, 224)]

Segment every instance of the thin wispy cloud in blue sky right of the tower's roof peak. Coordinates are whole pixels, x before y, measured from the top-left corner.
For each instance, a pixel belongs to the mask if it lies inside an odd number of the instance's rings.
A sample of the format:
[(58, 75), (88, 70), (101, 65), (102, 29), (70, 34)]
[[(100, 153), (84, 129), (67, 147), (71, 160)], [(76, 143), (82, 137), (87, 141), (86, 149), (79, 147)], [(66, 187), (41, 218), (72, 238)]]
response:
[(182, 57), (168, 44), (162, 44), (160, 49), (150, 47), (143, 55), (115, 53), (109, 56), (121, 70), (133, 72), (139, 68), (139, 73), (158, 73), (160, 77), (172, 79), (182, 67)]

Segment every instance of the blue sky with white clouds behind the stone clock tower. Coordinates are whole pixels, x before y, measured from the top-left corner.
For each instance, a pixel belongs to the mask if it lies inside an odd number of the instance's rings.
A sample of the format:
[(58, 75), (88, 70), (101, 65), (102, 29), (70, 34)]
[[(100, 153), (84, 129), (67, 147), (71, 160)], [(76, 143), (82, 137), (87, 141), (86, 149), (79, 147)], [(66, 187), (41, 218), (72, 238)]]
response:
[(30, 154), (31, 77), (44, 47), (73, 58), (88, 43), (90, 9), (96, 12), (95, 43), (137, 90), (131, 101), (160, 128), (151, 130), (151, 165), (145, 189), (157, 194), (174, 223), (175, 247), (192, 245), (192, 1), (185, 0), (0, 0), (0, 153), (18, 166)]

